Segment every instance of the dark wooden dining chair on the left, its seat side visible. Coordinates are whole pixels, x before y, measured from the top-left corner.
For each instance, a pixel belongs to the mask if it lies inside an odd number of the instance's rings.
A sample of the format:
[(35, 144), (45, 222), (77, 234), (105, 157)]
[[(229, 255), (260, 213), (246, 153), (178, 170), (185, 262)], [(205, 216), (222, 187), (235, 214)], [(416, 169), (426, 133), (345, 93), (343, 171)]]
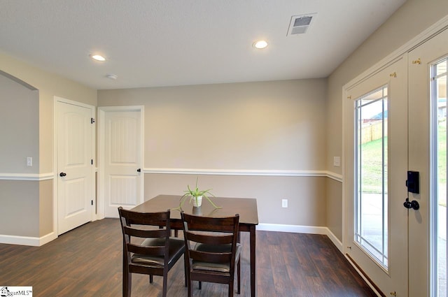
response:
[[(149, 275), (150, 283), (153, 275), (162, 276), (166, 297), (168, 272), (186, 250), (183, 239), (171, 237), (170, 211), (133, 212), (119, 207), (118, 213), (123, 231), (123, 297), (131, 296), (132, 273)], [(185, 279), (187, 287), (186, 268)]]

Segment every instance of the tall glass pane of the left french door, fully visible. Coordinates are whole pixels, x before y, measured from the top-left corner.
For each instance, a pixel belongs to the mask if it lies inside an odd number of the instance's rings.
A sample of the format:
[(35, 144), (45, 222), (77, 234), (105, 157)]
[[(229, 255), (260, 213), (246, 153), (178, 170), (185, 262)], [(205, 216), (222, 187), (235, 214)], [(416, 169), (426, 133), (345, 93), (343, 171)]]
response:
[(356, 100), (355, 242), (388, 267), (387, 86)]

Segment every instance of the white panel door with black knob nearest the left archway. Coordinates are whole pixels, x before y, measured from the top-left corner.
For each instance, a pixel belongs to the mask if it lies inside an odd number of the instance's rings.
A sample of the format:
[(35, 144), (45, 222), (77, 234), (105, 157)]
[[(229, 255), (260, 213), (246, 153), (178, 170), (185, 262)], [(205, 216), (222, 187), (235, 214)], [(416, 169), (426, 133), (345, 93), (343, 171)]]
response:
[(57, 233), (92, 221), (94, 108), (63, 101), (57, 110)]

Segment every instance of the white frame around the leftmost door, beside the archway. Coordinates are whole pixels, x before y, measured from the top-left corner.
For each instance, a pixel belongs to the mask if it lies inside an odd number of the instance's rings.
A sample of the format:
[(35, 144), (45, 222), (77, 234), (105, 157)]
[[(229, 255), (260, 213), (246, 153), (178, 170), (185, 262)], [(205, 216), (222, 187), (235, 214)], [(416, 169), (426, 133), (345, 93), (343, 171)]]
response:
[[(92, 118), (94, 119), (96, 108), (94, 106), (90, 106), (85, 103), (80, 103), (78, 101), (73, 101), (69, 99), (64, 99), (62, 97), (53, 96), (53, 231), (55, 232), (55, 235), (57, 237), (58, 234), (58, 222), (57, 222), (57, 205), (59, 203), (59, 196), (57, 195), (57, 125), (59, 124), (57, 122), (57, 102), (62, 102), (66, 104), (72, 104), (74, 106), (81, 106), (83, 108), (88, 108), (91, 111)], [(95, 139), (97, 129), (94, 129), (94, 123), (92, 124), (92, 159), (93, 164), (95, 164), (95, 152), (97, 150), (97, 145)], [(95, 176), (95, 168), (92, 166), (92, 177)], [(95, 179), (92, 180), (92, 198), (94, 198), (95, 195), (95, 189), (96, 189)], [(94, 202), (95, 203), (95, 202)], [(97, 219), (97, 215), (95, 212), (92, 212), (92, 221)]]

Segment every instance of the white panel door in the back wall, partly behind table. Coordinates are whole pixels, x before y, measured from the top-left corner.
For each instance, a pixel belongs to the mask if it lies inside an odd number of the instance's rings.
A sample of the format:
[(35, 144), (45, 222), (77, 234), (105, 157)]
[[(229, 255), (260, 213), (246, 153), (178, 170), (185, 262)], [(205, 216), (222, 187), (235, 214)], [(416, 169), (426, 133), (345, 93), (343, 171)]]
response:
[(104, 216), (143, 202), (142, 108), (101, 108)]

